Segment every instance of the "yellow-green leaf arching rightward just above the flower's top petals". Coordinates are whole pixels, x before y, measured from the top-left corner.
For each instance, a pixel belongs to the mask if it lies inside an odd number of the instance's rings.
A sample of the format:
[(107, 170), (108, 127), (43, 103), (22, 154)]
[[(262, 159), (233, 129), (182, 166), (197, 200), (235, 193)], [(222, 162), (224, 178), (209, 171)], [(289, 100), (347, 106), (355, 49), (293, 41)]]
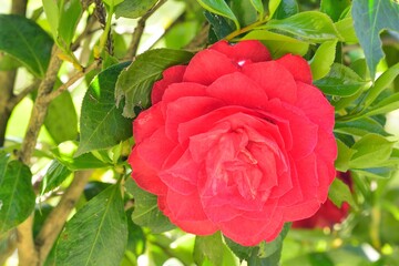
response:
[(267, 30), (253, 30), (242, 40), (262, 40), (270, 51), (273, 58), (280, 58), (287, 53), (304, 55), (309, 49), (309, 43), (278, 34)]

